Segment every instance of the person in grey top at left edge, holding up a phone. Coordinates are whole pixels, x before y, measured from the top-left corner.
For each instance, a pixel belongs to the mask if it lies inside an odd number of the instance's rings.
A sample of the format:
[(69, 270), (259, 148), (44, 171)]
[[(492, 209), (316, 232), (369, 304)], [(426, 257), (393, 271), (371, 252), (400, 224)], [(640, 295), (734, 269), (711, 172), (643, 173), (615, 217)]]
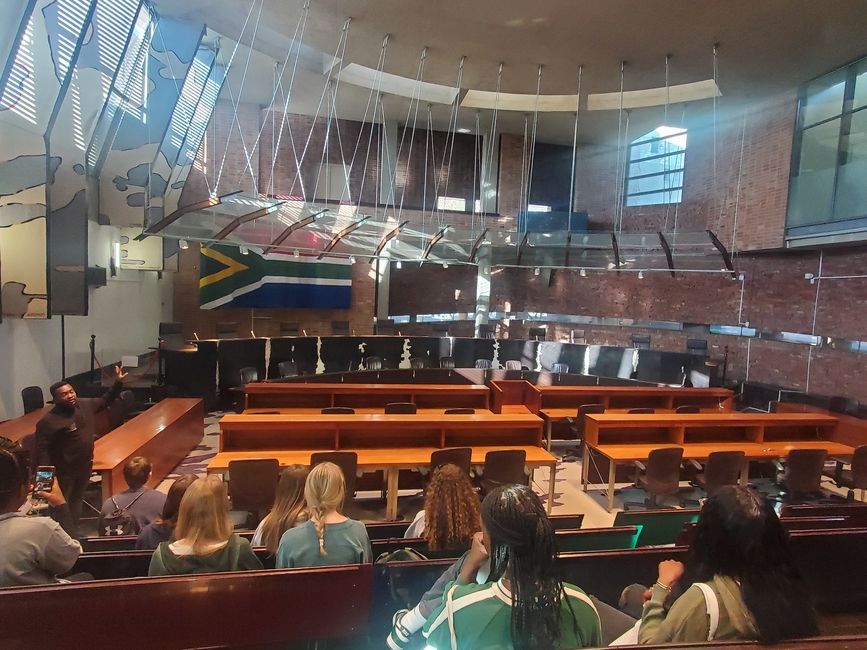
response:
[(60, 481), (50, 492), (34, 495), (48, 502), (53, 518), (21, 512), (29, 488), (27, 453), (0, 438), (0, 587), (58, 582), (56, 576), (69, 571), (81, 555), (78, 540), (66, 533), (74, 527)]

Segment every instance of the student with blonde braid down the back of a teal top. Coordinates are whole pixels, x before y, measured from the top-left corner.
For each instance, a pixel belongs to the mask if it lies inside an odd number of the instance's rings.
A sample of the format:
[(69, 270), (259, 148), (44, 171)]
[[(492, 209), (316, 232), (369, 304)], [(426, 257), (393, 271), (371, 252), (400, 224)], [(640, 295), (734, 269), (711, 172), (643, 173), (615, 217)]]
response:
[(334, 463), (320, 463), (310, 470), (304, 485), (310, 519), (283, 533), (278, 569), (371, 561), (364, 524), (340, 513), (345, 491), (343, 471)]

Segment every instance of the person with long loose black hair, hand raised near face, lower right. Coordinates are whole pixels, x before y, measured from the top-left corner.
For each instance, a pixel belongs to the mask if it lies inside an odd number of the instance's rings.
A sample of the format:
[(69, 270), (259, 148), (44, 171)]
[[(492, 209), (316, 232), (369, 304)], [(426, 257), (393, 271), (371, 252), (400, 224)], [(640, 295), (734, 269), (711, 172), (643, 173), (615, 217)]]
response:
[[(680, 596), (666, 611), (673, 591)], [(750, 488), (729, 486), (701, 509), (686, 566), (674, 560), (660, 563), (638, 639), (653, 644), (710, 639), (776, 643), (816, 634), (810, 594), (773, 507)]]

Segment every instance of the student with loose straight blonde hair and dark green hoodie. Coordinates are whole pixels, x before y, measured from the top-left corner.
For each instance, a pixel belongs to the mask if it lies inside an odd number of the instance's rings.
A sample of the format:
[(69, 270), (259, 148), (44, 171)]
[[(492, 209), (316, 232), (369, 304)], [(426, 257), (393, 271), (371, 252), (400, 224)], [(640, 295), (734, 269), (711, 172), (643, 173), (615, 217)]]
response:
[(187, 488), (178, 511), (174, 542), (154, 551), (148, 575), (250, 571), (262, 563), (243, 537), (232, 532), (229, 495), (218, 476), (206, 476)]

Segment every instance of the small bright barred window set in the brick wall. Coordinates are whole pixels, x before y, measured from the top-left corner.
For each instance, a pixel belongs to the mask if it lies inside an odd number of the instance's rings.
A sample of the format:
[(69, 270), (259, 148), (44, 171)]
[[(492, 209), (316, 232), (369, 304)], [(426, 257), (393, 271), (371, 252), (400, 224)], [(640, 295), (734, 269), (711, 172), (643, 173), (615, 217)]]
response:
[(659, 126), (629, 145), (626, 205), (680, 203), (686, 129)]

